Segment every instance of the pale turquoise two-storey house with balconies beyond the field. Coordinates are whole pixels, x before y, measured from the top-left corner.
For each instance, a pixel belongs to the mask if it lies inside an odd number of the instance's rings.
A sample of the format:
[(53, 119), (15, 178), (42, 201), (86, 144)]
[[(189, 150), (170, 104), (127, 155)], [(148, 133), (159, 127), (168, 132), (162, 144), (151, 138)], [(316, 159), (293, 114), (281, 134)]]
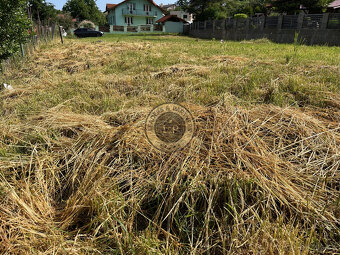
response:
[(154, 1), (125, 0), (119, 4), (106, 4), (107, 20), (113, 26), (152, 25), (165, 11)]

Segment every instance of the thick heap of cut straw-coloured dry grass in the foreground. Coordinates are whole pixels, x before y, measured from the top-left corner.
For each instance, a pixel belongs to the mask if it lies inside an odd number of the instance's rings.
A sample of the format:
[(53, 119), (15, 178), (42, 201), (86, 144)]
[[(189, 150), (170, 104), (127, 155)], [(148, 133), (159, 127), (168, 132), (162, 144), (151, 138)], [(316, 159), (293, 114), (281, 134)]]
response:
[[(14, 129), (9, 140), (30, 135), (30, 160), (0, 174), (0, 249), (307, 254), (339, 248), (339, 126), (295, 108), (186, 106), (195, 137), (171, 155), (144, 136), (149, 108), (102, 116), (55, 109)], [(37, 136), (40, 144), (33, 143)]]

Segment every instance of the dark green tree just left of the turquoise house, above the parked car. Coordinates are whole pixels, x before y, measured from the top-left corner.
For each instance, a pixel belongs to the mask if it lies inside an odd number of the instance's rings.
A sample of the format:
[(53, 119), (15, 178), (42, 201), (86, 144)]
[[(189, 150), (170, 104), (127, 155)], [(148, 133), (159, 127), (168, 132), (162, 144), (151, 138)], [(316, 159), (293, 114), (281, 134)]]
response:
[(104, 14), (98, 9), (95, 0), (68, 0), (63, 7), (64, 12), (71, 13), (73, 18), (91, 20), (96, 24), (106, 23)]

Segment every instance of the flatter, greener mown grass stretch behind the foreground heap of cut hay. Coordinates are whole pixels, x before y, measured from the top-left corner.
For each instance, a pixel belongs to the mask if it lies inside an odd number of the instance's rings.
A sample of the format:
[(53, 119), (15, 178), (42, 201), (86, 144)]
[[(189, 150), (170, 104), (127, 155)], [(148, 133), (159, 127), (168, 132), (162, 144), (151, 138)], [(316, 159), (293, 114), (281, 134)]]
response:
[(30, 96), (0, 107), (30, 112), (65, 103), (90, 114), (168, 101), (327, 107), (339, 99), (339, 63), (339, 47), (266, 40), (69, 39), (42, 46), (31, 61), (5, 73), (7, 83)]

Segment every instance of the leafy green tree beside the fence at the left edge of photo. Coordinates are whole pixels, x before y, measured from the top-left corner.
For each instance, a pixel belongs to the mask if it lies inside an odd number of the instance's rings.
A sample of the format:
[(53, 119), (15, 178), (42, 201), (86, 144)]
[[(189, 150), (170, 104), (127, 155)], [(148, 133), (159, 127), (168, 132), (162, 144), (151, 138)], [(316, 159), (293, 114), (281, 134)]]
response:
[(28, 38), (30, 20), (26, 0), (0, 1), (0, 60), (6, 59), (20, 48)]

